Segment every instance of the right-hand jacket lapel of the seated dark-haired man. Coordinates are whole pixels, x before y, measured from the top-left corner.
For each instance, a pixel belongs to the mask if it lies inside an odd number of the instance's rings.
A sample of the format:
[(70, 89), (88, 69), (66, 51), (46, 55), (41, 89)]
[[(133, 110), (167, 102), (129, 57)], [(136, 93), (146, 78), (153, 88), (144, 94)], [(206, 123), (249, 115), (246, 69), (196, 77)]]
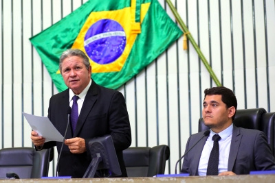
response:
[(232, 132), (232, 139), (229, 151), (229, 158), (228, 158), (228, 171), (232, 171), (234, 167), (234, 163), (236, 160), (236, 155), (239, 151), (239, 146), (241, 144), (241, 137), (243, 135), (240, 134), (239, 127), (233, 125), (233, 132)]

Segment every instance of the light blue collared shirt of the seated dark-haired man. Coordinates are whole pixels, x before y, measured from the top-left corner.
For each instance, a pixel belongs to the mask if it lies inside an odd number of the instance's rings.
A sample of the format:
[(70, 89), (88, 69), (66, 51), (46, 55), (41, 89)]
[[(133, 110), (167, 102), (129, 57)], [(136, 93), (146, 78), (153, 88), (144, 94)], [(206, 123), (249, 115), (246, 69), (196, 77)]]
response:
[[(228, 171), (228, 158), (229, 158), (229, 151), (232, 139), (232, 132), (233, 132), (233, 124), (231, 124), (228, 128), (219, 132), (219, 136), (221, 139), (219, 140), (219, 173), (223, 171)], [(216, 134), (212, 130), (210, 130), (210, 135), (206, 140), (206, 144), (203, 147), (201, 152), (201, 159), (199, 160), (199, 175), (205, 176), (208, 166), (208, 160), (213, 148), (213, 141), (212, 137)]]

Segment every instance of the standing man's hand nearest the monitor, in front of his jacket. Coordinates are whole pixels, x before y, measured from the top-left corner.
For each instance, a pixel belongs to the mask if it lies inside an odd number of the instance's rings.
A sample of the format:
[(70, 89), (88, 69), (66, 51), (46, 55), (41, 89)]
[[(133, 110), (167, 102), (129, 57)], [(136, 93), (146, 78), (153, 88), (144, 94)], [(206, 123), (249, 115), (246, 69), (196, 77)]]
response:
[(83, 138), (76, 137), (67, 139), (64, 143), (73, 154), (80, 154), (86, 151), (85, 140)]

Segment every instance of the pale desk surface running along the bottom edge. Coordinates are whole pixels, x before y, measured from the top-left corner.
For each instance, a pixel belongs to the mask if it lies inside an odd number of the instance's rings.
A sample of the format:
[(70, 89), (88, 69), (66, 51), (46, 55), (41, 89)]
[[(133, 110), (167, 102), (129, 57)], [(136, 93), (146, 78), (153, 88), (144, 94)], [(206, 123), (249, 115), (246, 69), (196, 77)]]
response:
[(181, 182), (192, 182), (192, 183), (203, 183), (203, 182), (275, 182), (275, 175), (234, 175), (234, 176), (204, 176), (204, 177), (182, 177), (182, 178), (94, 178), (94, 179), (18, 179), (18, 180), (0, 180), (0, 182), (24, 182), (24, 183), (73, 183), (73, 182), (89, 182), (89, 183), (141, 183), (141, 182), (152, 182), (152, 183), (181, 183)]

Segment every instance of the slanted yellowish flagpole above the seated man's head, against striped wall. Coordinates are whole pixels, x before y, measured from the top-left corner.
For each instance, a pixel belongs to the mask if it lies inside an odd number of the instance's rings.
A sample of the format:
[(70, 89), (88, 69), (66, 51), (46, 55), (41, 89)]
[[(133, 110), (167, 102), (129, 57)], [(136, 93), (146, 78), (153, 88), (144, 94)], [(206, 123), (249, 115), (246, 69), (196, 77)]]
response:
[(177, 12), (175, 6), (171, 3), (170, 0), (166, 0), (166, 3), (168, 3), (170, 9), (172, 10), (173, 14), (175, 15), (175, 18), (179, 25), (181, 26), (181, 29), (184, 30), (184, 34), (187, 36), (187, 38), (190, 40), (192, 43), (193, 47), (197, 51), (199, 58), (201, 58), (201, 61), (203, 62), (204, 66), (206, 66), (207, 71), (210, 73), (210, 76), (212, 77), (212, 80), (214, 80), (215, 84), (217, 86), (221, 86), (221, 83), (219, 82), (217, 76), (214, 74), (214, 71), (212, 70), (211, 66), (208, 64), (206, 58), (203, 56), (203, 53), (201, 53), (201, 49), (199, 49), (199, 46), (195, 42), (194, 38), (190, 34), (188, 28), (184, 24), (184, 21), (182, 21), (181, 17), (179, 16), (179, 13)]

